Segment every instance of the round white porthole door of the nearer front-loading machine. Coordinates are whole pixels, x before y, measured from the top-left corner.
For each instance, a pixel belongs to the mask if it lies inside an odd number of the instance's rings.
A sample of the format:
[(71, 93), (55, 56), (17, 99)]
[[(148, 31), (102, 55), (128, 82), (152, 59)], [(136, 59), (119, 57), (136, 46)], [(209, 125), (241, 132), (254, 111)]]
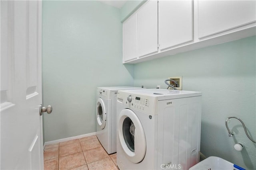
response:
[(146, 137), (140, 119), (130, 109), (123, 109), (118, 116), (118, 136), (128, 160), (141, 162), (146, 154)]

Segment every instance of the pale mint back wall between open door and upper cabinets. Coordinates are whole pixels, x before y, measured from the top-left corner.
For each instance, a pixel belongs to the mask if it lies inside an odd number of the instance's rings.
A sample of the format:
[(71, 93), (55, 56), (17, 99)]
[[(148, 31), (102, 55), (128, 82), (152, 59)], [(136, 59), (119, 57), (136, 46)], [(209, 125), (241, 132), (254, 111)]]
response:
[(96, 131), (96, 87), (132, 86), (120, 10), (98, 1), (42, 2), (44, 141)]

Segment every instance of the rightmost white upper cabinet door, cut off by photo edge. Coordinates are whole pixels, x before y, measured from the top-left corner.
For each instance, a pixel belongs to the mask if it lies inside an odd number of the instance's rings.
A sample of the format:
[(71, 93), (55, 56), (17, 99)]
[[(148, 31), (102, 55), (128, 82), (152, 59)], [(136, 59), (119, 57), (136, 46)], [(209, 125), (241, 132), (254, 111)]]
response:
[(199, 38), (254, 22), (255, 7), (255, 0), (198, 0)]

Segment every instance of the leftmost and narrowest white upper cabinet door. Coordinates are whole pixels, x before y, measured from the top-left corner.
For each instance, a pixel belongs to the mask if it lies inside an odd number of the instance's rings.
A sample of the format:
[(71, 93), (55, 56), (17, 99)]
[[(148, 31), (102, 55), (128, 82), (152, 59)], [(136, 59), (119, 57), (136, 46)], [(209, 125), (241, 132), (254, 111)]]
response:
[(137, 14), (123, 23), (123, 62), (137, 58)]

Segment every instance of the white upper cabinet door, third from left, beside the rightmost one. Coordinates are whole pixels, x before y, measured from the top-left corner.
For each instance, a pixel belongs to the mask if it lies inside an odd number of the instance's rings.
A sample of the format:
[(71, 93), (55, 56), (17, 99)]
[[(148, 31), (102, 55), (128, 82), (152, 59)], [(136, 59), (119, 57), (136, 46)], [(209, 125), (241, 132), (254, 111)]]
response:
[(159, 49), (193, 40), (192, 0), (159, 1)]

